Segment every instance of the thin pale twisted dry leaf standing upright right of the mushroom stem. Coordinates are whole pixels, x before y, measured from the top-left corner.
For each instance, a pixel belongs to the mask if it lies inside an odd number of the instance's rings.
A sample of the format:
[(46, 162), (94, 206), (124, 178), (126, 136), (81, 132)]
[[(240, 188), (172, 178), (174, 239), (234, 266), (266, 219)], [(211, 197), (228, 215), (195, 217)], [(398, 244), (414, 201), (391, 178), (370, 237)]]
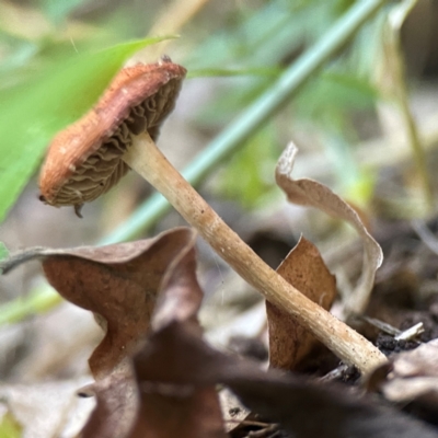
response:
[(327, 215), (347, 221), (359, 233), (364, 242), (362, 274), (354, 292), (347, 298), (345, 307), (346, 312), (361, 313), (368, 304), (376, 270), (383, 261), (382, 250), (357, 212), (328, 187), (308, 178), (292, 178), (291, 172), (297, 152), (298, 149), (293, 143), (289, 143), (283, 152), (276, 169), (277, 184), (291, 203), (319, 208)]

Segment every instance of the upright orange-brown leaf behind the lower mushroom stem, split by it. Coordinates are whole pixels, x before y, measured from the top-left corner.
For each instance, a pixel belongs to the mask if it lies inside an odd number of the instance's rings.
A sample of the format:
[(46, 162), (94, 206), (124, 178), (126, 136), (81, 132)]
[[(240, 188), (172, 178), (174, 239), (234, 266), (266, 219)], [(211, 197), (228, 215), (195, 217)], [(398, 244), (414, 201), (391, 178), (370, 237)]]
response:
[[(277, 273), (301, 293), (328, 310), (336, 297), (336, 279), (326, 268), (313, 243), (301, 237)], [(269, 364), (274, 368), (292, 370), (319, 343), (290, 314), (266, 301), (269, 327)]]

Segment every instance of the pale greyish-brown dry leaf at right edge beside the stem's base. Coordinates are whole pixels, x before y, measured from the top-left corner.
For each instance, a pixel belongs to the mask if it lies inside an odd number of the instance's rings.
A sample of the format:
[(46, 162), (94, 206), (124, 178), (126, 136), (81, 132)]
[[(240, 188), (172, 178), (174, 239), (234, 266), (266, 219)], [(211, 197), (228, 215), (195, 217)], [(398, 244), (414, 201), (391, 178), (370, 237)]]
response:
[(392, 372), (381, 384), (383, 395), (397, 403), (414, 400), (438, 408), (438, 339), (393, 357)]

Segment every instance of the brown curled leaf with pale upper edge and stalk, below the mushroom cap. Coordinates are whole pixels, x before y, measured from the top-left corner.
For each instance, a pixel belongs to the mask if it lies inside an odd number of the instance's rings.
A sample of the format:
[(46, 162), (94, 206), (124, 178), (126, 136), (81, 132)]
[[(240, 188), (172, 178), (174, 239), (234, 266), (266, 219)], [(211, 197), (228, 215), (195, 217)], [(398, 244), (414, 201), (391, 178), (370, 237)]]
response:
[(164, 274), (195, 233), (177, 228), (154, 239), (103, 247), (31, 249), (0, 264), (7, 273), (18, 264), (42, 260), (50, 285), (67, 300), (103, 319), (106, 334), (89, 362), (96, 379), (131, 355), (150, 330)]

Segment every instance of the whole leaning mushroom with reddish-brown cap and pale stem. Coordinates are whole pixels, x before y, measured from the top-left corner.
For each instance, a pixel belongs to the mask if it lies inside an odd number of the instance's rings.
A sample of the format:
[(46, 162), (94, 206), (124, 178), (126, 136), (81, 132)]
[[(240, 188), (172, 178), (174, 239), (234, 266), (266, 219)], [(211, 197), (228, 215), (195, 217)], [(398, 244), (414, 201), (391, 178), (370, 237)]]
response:
[(267, 266), (157, 148), (158, 128), (172, 111), (184, 76), (185, 69), (169, 58), (123, 69), (96, 106), (51, 142), (41, 175), (42, 199), (54, 206), (73, 205), (79, 212), (83, 203), (134, 169), (268, 301), (289, 312), (341, 359), (370, 372), (385, 357)]

